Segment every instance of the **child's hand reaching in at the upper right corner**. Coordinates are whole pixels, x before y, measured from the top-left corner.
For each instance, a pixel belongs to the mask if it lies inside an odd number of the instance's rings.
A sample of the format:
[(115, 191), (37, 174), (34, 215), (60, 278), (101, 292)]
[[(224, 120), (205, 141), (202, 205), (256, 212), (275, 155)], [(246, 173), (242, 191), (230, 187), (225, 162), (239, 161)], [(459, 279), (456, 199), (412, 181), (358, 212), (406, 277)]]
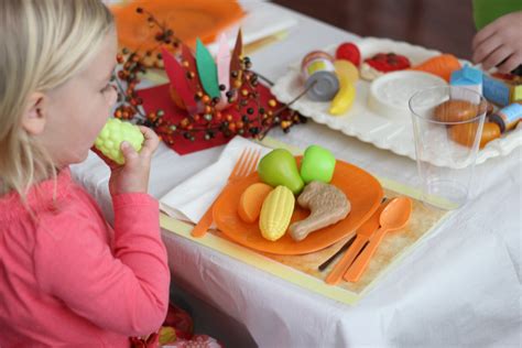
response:
[(474, 62), (485, 70), (497, 66), (510, 73), (522, 64), (522, 11), (502, 15), (486, 25), (474, 37)]

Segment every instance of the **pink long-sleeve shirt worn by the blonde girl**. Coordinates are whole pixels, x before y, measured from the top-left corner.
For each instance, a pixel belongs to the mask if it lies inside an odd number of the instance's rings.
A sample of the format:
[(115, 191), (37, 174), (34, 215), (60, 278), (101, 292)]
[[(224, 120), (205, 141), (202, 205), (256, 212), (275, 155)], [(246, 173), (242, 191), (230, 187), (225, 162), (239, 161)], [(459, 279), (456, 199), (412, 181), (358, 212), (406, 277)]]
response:
[(36, 220), (18, 195), (0, 197), (0, 347), (129, 347), (161, 326), (170, 272), (156, 200), (112, 197), (112, 231), (67, 168), (28, 203)]

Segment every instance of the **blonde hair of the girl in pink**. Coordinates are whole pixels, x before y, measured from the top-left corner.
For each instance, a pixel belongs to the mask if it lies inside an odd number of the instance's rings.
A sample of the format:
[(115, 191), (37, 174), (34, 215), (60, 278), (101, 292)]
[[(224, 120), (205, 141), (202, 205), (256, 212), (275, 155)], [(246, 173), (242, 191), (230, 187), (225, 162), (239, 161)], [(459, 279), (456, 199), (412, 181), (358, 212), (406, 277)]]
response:
[(35, 181), (56, 175), (21, 127), (28, 99), (85, 68), (112, 28), (100, 0), (0, 0), (0, 196), (24, 197)]

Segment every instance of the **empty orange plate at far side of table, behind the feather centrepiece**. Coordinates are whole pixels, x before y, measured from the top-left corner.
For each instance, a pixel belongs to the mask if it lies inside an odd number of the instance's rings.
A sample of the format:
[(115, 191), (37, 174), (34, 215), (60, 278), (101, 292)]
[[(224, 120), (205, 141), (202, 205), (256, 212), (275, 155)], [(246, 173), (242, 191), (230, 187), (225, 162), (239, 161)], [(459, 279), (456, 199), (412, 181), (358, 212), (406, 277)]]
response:
[(135, 12), (139, 7), (152, 13), (162, 25), (172, 29), (192, 47), (196, 37), (210, 43), (217, 34), (244, 15), (235, 0), (135, 0), (112, 6), (120, 45), (131, 50), (157, 47), (154, 40), (157, 28), (149, 28), (148, 15)]

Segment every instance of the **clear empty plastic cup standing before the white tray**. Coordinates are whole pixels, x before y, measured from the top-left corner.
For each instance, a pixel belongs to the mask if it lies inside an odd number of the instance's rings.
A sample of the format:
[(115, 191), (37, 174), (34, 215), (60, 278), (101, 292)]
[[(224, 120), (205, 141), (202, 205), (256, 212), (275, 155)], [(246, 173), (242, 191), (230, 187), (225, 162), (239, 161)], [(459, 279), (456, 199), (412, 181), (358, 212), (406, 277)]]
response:
[(409, 105), (422, 199), (437, 208), (458, 209), (475, 187), (487, 102), (471, 89), (439, 86), (417, 91)]

